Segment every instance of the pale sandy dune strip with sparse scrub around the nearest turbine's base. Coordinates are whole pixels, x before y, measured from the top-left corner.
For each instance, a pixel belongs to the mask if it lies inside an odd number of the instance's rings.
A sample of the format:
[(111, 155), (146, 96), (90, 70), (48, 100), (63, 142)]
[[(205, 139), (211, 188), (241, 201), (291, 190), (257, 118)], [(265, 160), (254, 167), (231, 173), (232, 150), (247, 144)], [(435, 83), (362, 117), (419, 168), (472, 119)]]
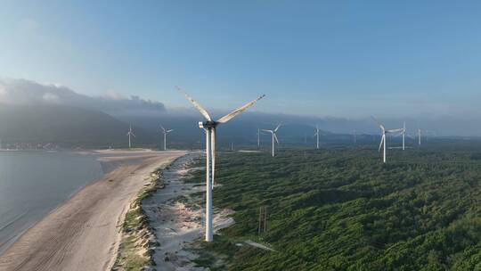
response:
[[(179, 164), (184, 162), (179, 161)], [(185, 200), (192, 202), (192, 193), (205, 192), (205, 185), (183, 184), (181, 180), (192, 170), (198, 169), (188, 169), (185, 166), (179, 168), (176, 165), (164, 171), (166, 188), (158, 190), (149, 199), (143, 201), (143, 209), (150, 218), (150, 224), (160, 244), (154, 253), (154, 261), (157, 264), (155, 268), (158, 271), (204, 270), (204, 268), (194, 267), (192, 259), (197, 256), (192, 251), (185, 250), (189, 243), (204, 234), (204, 209), (188, 208), (183, 203)], [(182, 199), (178, 198), (180, 195), (183, 196)], [(233, 224), (234, 221), (229, 218), (229, 215), (230, 212), (227, 210), (215, 209), (215, 230)]]

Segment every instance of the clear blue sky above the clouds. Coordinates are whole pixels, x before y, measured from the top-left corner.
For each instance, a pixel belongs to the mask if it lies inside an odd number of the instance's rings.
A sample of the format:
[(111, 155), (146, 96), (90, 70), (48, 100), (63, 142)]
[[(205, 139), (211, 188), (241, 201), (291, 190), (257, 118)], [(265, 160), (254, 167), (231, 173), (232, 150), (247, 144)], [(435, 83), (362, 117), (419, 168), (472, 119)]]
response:
[(481, 116), (481, 2), (3, 1), (0, 77), (230, 109)]

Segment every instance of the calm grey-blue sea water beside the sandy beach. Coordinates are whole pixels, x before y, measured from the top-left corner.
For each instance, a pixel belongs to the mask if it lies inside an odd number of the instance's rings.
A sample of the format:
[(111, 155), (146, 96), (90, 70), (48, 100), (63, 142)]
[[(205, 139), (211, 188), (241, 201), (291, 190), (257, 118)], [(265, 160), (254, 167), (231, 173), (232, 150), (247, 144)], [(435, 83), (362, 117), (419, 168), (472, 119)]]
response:
[(102, 177), (100, 155), (0, 152), (0, 254), (46, 213)]

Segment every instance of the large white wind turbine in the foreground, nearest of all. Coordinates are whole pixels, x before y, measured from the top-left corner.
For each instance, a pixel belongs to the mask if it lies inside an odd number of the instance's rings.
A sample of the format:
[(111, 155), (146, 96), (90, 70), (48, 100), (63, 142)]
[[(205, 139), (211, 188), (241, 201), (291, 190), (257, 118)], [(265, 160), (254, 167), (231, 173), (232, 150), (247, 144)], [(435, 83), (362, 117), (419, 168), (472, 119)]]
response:
[(206, 132), (206, 242), (212, 242), (213, 241), (213, 230), (212, 230), (212, 186), (214, 185), (214, 176), (216, 172), (216, 127), (220, 124), (223, 124), (235, 116), (239, 115), (241, 112), (245, 111), (248, 109), (250, 106), (252, 106), (254, 103), (256, 103), (258, 100), (262, 99), (265, 97), (265, 95), (260, 95), (257, 97), (256, 100), (253, 100), (249, 103), (246, 103), (245, 105), (241, 106), (240, 108), (230, 112), (229, 114), (225, 115), (221, 119), (218, 119), (217, 121), (212, 120), (210, 116), (208, 115), (208, 111), (203, 109), (199, 103), (194, 101), (191, 96), (183, 92), (182, 89), (177, 87), (177, 90), (181, 92), (189, 102), (193, 104), (193, 106), (200, 111), (200, 114), (204, 116), (207, 121), (205, 122), (199, 122), (199, 127), (201, 129), (204, 129)]

